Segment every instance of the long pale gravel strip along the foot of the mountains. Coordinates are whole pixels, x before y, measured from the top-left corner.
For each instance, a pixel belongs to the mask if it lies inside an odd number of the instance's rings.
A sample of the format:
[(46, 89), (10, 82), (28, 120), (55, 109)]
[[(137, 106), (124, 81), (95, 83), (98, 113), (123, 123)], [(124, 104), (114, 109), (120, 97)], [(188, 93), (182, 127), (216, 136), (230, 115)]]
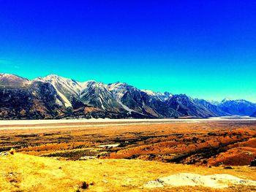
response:
[[(104, 126), (129, 126), (157, 123), (202, 123), (207, 121), (252, 121), (249, 117), (183, 118), (183, 119), (60, 119), (60, 120), (0, 120), (0, 130), (28, 128), (84, 128)], [(63, 124), (61, 123), (69, 123)], [(72, 125), (72, 123), (81, 123)], [(56, 124), (56, 125), (54, 125)]]

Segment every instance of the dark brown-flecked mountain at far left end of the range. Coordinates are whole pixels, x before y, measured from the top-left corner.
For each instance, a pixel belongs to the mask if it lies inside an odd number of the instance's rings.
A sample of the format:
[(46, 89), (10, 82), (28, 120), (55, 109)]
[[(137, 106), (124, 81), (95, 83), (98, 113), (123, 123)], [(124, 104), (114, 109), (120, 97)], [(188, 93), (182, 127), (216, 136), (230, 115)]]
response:
[(62, 102), (50, 83), (0, 74), (1, 119), (55, 118), (64, 114)]

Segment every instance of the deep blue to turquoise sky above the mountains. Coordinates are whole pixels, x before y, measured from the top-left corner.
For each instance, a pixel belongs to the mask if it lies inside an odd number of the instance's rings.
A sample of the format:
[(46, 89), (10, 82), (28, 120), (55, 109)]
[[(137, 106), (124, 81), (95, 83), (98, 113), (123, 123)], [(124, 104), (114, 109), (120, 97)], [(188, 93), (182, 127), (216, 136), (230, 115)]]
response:
[(256, 1), (0, 0), (0, 72), (256, 102)]

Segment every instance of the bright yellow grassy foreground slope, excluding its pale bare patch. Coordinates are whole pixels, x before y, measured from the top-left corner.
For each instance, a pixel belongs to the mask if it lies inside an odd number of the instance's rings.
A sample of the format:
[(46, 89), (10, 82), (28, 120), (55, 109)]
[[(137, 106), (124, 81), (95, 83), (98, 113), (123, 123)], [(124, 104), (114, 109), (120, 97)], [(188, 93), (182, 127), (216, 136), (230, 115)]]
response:
[[(230, 185), (229, 188), (205, 187), (143, 188), (159, 177), (182, 172), (194, 174), (231, 174), (256, 180), (256, 169), (249, 166), (166, 164), (157, 161), (94, 159), (59, 161), (15, 153), (0, 156), (0, 191), (255, 191), (255, 186)], [(86, 185), (86, 184), (88, 185)], [(84, 189), (83, 189), (84, 188)]]

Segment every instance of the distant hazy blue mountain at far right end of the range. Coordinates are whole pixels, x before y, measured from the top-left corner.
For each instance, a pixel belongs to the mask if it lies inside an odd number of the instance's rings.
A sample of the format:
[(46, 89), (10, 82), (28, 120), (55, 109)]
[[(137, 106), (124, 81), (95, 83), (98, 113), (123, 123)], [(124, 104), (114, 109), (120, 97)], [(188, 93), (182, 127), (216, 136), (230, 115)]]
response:
[(224, 99), (219, 108), (230, 115), (252, 115), (256, 111), (256, 104), (246, 100)]

